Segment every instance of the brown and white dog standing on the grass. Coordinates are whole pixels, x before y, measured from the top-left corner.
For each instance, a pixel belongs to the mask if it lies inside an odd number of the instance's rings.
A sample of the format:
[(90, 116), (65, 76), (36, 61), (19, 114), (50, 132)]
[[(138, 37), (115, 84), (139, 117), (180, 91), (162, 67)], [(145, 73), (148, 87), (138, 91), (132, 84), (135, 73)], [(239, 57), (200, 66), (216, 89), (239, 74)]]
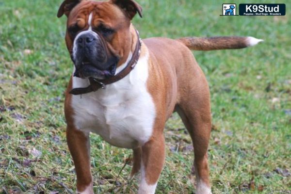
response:
[(138, 193), (154, 194), (165, 160), (164, 125), (176, 111), (193, 140), (196, 193), (210, 194), (210, 93), (190, 49), (241, 49), (262, 40), (140, 40), (130, 22), (136, 13), (142, 16), (134, 0), (65, 0), (58, 12), (68, 17), (65, 41), (74, 62), (65, 118), (77, 192), (93, 194), (89, 133), (95, 132), (113, 146), (133, 149), (130, 176), (141, 171)]

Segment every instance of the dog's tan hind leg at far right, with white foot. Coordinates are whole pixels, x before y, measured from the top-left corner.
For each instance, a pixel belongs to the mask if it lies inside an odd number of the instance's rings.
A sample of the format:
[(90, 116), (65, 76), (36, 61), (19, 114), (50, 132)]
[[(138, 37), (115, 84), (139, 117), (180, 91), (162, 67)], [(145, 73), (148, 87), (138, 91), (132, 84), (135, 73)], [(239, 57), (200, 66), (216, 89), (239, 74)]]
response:
[(188, 80), (189, 84), (183, 89), (176, 111), (189, 131), (194, 146), (196, 194), (211, 194), (207, 159), (211, 130), (210, 92), (204, 75), (200, 75), (198, 80)]

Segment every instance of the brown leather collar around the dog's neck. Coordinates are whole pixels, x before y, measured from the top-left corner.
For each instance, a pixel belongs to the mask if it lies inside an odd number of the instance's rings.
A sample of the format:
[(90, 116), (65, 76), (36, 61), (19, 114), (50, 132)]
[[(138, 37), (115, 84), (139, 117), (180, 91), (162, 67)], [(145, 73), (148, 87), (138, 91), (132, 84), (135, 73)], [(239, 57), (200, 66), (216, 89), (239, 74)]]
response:
[(74, 88), (72, 89), (69, 93), (72, 95), (81, 95), (81, 94), (87, 94), (90, 92), (96, 92), (98, 89), (102, 88), (102, 89), (106, 89), (106, 85), (114, 83), (116, 81), (119, 81), (121, 79), (123, 79), (124, 77), (126, 77), (132, 69), (134, 69), (135, 65), (138, 62), (138, 59), (140, 57), (141, 54), (141, 39), (139, 36), (139, 33), (137, 30), (136, 34), (137, 34), (137, 41), (136, 41), (136, 46), (135, 46), (135, 50), (132, 54), (132, 57), (128, 63), (128, 65), (118, 74), (114, 75), (111, 78), (105, 79), (105, 80), (97, 80), (95, 78), (89, 78), (90, 81), (90, 85), (86, 88)]

